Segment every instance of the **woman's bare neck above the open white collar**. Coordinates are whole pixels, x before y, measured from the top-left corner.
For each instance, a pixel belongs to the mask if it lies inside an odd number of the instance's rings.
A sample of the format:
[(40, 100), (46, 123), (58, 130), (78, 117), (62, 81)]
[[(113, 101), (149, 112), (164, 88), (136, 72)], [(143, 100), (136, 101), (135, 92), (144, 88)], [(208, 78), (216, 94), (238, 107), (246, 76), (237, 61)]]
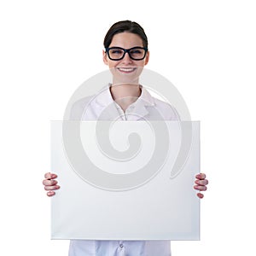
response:
[(125, 111), (141, 95), (139, 84), (111, 85), (110, 92), (113, 100)]

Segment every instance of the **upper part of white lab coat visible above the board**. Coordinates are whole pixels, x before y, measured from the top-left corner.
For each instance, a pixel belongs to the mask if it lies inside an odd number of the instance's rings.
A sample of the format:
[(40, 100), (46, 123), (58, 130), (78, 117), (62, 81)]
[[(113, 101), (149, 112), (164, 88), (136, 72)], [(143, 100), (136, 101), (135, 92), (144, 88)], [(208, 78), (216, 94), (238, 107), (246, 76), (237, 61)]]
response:
[(175, 108), (152, 97), (143, 86), (142, 94), (125, 113), (113, 101), (110, 84), (103, 87), (96, 96), (82, 98), (73, 104), (70, 119), (76, 120), (177, 120)]

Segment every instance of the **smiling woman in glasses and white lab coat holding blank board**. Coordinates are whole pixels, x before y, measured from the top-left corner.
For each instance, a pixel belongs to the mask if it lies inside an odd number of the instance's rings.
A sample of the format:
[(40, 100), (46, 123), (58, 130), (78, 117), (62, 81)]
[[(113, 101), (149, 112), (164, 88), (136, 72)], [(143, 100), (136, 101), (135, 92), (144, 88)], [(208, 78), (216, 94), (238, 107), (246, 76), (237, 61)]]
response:
[[(163, 119), (176, 120), (177, 113), (166, 102), (150, 96), (139, 84), (138, 78), (148, 64), (148, 39), (143, 27), (130, 20), (119, 21), (110, 27), (104, 39), (103, 61), (113, 74), (108, 84), (96, 96), (88, 97), (73, 105), (71, 119), (155, 119), (155, 110)], [(113, 108), (108, 108), (112, 105)], [(106, 110), (107, 109), (107, 110)], [(46, 173), (44, 189), (47, 195), (55, 195), (60, 189), (54, 173)], [(205, 174), (198, 174), (195, 189), (207, 190)], [(197, 194), (199, 198), (203, 195)], [(69, 255), (171, 255), (170, 241), (71, 241)]]

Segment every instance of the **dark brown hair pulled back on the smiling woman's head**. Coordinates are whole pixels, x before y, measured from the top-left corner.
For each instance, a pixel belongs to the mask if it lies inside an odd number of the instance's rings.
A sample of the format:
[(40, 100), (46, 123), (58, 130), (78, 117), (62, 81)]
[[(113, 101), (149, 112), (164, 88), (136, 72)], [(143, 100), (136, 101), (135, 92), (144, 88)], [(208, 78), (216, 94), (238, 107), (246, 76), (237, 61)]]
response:
[(121, 32), (131, 32), (137, 34), (140, 38), (143, 39), (143, 47), (148, 48), (148, 38), (143, 30), (143, 27), (140, 26), (137, 22), (131, 20), (122, 20), (114, 23), (109, 28), (104, 38), (104, 47), (108, 48), (112, 42), (113, 36)]

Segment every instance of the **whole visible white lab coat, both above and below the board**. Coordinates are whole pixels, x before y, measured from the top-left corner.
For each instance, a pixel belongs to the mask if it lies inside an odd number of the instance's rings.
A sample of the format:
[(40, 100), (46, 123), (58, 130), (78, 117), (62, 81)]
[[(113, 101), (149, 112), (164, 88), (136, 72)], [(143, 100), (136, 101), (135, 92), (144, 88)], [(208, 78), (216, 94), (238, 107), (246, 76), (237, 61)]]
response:
[[(143, 86), (142, 94), (125, 113), (113, 102), (110, 84), (96, 96), (73, 104), (72, 120), (177, 120), (172, 106), (152, 97)], [(170, 256), (170, 241), (70, 241), (69, 256)]]

